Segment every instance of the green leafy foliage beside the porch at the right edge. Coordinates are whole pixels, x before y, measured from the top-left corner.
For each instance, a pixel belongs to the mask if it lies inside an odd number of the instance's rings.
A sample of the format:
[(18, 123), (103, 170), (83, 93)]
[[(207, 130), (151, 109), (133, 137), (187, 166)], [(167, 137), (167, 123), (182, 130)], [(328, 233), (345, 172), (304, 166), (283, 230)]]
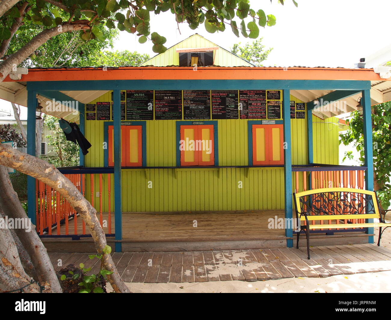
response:
[[(359, 161), (364, 164), (364, 123), (359, 111), (351, 113), (349, 129), (341, 134), (344, 145), (353, 143), (360, 154)], [(372, 137), (373, 137), (373, 169), (374, 184), (380, 203), (384, 209), (390, 207), (390, 163), (391, 163), (391, 102), (377, 104), (372, 107)], [(345, 157), (352, 157), (348, 151)]]

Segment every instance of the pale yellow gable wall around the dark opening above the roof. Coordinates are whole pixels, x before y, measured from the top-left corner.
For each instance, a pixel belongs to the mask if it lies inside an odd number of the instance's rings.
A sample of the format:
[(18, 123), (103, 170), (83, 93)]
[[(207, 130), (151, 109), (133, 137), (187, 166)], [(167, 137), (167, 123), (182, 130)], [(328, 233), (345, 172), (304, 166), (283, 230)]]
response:
[[(209, 48), (217, 45), (199, 34), (194, 34), (189, 38), (179, 42), (178, 44), (169, 48), (166, 52), (156, 55), (151, 59), (140, 64), (141, 66), (178, 66), (179, 54), (176, 52), (177, 48)], [(234, 66), (253, 66), (251, 63), (237, 57), (222, 48), (215, 50), (214, 64), (217, 66), (234, 67)]]

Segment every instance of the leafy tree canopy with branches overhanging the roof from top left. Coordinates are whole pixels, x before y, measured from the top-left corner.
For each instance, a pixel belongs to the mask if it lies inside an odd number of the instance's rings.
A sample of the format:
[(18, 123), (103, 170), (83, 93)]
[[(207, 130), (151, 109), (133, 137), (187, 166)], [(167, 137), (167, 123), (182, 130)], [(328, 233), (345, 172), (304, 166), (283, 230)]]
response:
[[(297, 6), (296, 1), (292, 1)], [(283, 0), (278, 2), (284, 4)], [(145, 43), (149, 39), (153, 52), (164, 52), (167, 50), (166, 38), (156, 30), (151, 30), (150, 13), (160, 14), (165, 11), (173, 14), (178, 25), (187, 23), (193, 30), (203, 24), (206, 31), (214, 33), (224, 31), (226, 26), (229, 26), (235, 36), (239, 37), (239, 34), (242, 34), (245, 38), (253, 39), (258, 38), (260, 27), (276, 24), (276, 17), (273, 14), (265, 14), (262, 9), (253, 9), (249, 0), (4, 1), (0, 3), (0, 57), (5, 56), (15, 35), (16, 39), (23, 39), (20, 43), (13, 41), (11, 55), (0, 64), (0, 81), (4, 80), (12, 68), (28, 57), (38, 59), (37, 64), (41, 58), (52, 64), (64, 64), (64, 61), (56, 60), (58, 52), (50, 59), (50, 55), (61, 48), (56, 48), (55, 43), (49, 48), (43, 45), (49, 39), (67, 32), (71, 33), (66, 36), (68, 41), (71, 41), (76, 33), (79, 37), (77, 40), (83, 42), (77, 46), (81, 48), (81, 52), (84, 43), (91, 40), (107, 45), (117, 29), (135, 34), (139, 37), (140, 43)], [(42, 51), (36, 52), (41, 46), (43, 48), (39, 50)], [(87, 46), (86, 49), (92, 50), (96, 43), (90, 43), (89, 46), (91, 47)], [(80, 62), (75, 59), (70, 63)]]

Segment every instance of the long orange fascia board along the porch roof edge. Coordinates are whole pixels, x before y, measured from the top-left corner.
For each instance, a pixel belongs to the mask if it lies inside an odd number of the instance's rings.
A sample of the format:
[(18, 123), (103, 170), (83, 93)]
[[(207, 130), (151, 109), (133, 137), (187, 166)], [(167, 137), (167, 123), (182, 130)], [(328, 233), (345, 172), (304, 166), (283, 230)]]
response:
[(372, 80), (385, 81), (373, 69), (344, 68), (273, 68), (273, 67), (120, 67), (29, 69), (21, 80), (4, 81), (74, 81), (74, 80)]

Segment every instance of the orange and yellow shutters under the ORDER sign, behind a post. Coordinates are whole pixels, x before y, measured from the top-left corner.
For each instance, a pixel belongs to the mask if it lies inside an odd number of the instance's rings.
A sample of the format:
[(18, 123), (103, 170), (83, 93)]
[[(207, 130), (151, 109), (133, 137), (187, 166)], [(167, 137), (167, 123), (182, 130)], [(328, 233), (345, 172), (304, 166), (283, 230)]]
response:
[[(109, 125), (109, 166), (114, 165), (114, 136)], [(121, 166), (142, 166), (142, 126), (121, 125)]]

